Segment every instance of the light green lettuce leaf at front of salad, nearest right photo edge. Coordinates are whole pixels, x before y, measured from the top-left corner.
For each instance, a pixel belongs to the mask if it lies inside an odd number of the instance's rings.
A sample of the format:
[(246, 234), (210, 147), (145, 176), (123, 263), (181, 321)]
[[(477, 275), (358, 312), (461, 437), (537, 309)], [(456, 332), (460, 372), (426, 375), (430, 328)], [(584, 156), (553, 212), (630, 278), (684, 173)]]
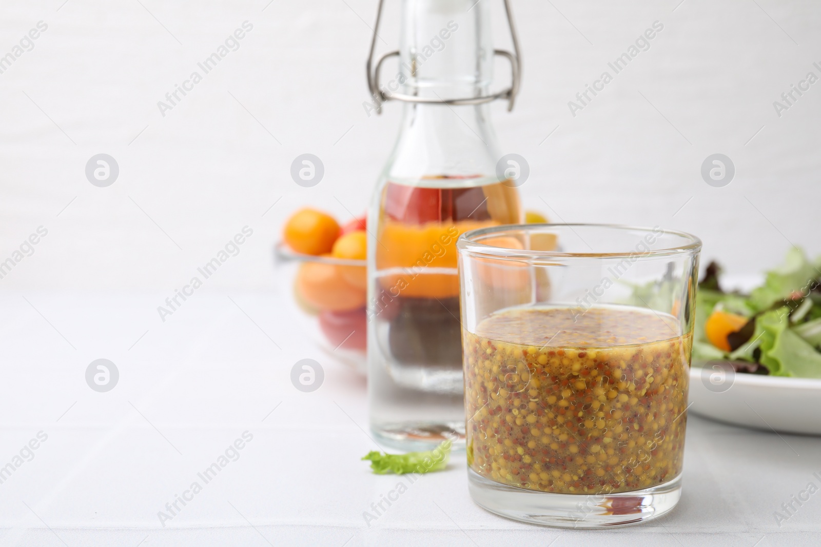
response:
[(759, 362), (773, 376), (797, 376), (821, 378), (821, 353), (787, 328), (789, 321), (786, 306), (762, 313), (755, 321), (753, 340), (760, 340)]

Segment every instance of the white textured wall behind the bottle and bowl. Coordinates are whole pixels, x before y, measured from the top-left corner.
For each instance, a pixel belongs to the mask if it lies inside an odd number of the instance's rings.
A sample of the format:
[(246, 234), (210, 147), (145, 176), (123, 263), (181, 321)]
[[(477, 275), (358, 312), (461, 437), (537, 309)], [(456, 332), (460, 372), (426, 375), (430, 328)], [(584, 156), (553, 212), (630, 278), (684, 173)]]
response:
[[(289, 212), (364, 211), (401, 112), (362, 107), (375, 2), (61, 2), (2, 7), (0, 53), (38, 21), (48, 30), (0, 75), (0, 258), (49, 230), (2, 288), (179, 288), (245, 225), (255, 235), (209, 285), (270, 288)], [(521, 96), (510, 114), (495, 105), (493, 121), (503, 152), (530, 162), (530, 207), (553, 221), (689, 230), (705, 262), (731, 274), (773, 266), (788, 241), (821, 252), (821, 82), (780, 118), (773, 108), (808, 71), (821, 76), (821, 7), (756, 2), (514, 1)], [(380, 34), (392, 48), (396, 17), (388, 2)], [(163, 117), (158, 101), (243, 21), (254, 30), (241, 48)], [(649, 51), (571, 116), (567, 102), (654, 21), (664, 30)], [(85, 179), (96, 153), (120, 166), (106, 189)], [(289, 175), (301, 153), (325, 165), (312, 189)], [(725, 188), (701, 179), (713, 153), (736, 165)]]

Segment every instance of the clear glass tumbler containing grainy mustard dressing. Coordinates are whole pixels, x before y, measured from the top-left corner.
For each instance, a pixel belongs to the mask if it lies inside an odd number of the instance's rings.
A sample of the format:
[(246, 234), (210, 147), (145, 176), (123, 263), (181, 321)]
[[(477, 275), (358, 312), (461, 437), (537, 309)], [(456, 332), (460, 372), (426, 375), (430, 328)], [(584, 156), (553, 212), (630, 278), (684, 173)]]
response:
[(675, 507), (700, 240), (530, 224), (456, 247), (474, 501), (573, 528)]

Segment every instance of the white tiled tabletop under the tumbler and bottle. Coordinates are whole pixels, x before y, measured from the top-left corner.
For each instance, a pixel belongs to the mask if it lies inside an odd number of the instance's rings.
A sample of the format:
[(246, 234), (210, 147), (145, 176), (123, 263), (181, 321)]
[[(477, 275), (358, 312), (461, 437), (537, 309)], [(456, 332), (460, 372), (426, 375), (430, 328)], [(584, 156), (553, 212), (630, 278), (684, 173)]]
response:
[[(48, 435), (0, 484), (2, 545), (763, 547), (821, 537), (821, 495), (780, 527), (773, 515), (818, 483), (821, 440), (695, 416), (681, 503), (656, 522), (559, 531), (496, 517), (471, 502), (456, 455), (368, 526), (370, 504), (408, 481), (360, 462), (377, 448), (363, 431), (365, 382), (313, 349), (276, 294), (197, 294), (165, 323), (163, 299), (0, 293), (0, 465)], [(308, 394), (289, 379), (306, 357), (325, 370)], [(108, 393), (85, 384), (95, 358), (120, 372)], [(244, 431), (253, 440), (239, 458), (198, 479)], [(158, 512), (193, 481), (202, 491), (163, 527)]]

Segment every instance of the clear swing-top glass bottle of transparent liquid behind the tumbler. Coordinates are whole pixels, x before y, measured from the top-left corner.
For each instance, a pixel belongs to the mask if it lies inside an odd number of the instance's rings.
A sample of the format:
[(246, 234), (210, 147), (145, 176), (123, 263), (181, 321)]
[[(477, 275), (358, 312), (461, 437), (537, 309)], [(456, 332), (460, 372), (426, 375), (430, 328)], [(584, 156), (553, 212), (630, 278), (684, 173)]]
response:
[[(488, 105), (512, 105), (518, 55), (493, 49), (489, 2), (475, 0), (402, 0), (400, 43), (401, 72), (383, 98), (404, 101), (404, 116), (368, 217), (370, 426), (380, 443), (401, 449), (446, 438), (458, 447), (465, 410), (456, 239), (523, 220), (516, 185), (497, 174)], [(514, 84), (488, 95), (494, 52), (511, 60)]]

